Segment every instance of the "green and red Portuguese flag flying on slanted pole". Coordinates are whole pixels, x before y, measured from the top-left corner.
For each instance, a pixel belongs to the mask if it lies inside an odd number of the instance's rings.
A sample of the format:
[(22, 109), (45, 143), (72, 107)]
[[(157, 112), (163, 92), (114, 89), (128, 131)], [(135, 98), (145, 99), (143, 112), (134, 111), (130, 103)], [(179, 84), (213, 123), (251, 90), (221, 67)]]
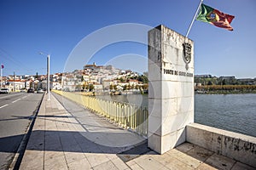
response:
[(235, 16), (232, 16), (230, 14), (224, 14), (223, 12), (220, 12), (215, 8), (209, 7), (201, 3), (201, 10), (199, 14), (197, 14), (196, 20), (201, 20), (203, 22), (212, 24), (213, 26), (218, 26), (220, 28), (233, 31), (230, 23), (234, 18)]

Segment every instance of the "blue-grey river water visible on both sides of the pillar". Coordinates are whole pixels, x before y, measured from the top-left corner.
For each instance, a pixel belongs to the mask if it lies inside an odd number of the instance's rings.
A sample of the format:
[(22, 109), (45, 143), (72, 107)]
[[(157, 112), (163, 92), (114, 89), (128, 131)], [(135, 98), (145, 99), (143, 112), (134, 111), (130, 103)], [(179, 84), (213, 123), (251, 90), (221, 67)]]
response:
[[(145, 94), (104, 99), (148, 106)], [(256, 137), (256, 94), (195, 94), (195, 122)]]

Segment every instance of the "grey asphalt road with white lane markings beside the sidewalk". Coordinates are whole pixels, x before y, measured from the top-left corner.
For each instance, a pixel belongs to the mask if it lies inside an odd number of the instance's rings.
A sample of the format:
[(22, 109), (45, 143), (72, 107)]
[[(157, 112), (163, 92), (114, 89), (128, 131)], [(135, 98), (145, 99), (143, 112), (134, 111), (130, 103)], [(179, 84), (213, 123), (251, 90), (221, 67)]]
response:
[(0, 169), (8, 169), (43, 94), (0, 94)]

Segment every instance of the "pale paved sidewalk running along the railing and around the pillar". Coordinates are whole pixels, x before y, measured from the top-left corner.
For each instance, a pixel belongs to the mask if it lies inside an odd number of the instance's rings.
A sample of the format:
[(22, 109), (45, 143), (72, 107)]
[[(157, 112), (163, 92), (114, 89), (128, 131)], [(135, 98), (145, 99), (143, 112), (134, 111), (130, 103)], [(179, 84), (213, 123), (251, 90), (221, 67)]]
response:
[(143, 137), (55, 97), (44, 95), (20, 169), (254, 169), (189, 143), (163, 155), (133, 153)]

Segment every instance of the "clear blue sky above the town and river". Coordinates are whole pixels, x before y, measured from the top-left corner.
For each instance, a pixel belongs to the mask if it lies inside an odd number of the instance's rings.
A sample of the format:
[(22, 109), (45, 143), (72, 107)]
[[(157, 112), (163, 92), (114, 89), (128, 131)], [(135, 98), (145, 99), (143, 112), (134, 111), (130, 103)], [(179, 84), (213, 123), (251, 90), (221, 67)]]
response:
[[(3, 75), (46, 72), (46, 57), (51, 54), (51, 73), (62, 72), (74, 48), (84, 38), (106, 26), (136, 23), (163, 24), (185, 35), (200, 0), (1, 0), (0, 62)], [(189, 38), (195, 42), (195, 74), (256, 77), (255, 0), (204, 0), (218, 10), (235, 15), (234, 31), (195, 21)], [(147, 38), (147, 34), (139, 35)], [(109, 35), (112, 37), (112, 35)], [(94, 42), (93, 45), (96, 45)], [(88, 48), (84, 47), (84, 51)], [(129, 59), (132, 54), (132, 59)], [(104, 46), (93, 56), (84, 56), (82, 65), (119, 63), (123, 69), (147, 70), (147, 45), (116, 42)], [(122, 57), (119, 57), (122, 56)], [(137, 57), (139, 62), (136, 61)], [(72, 59), (70, 59), (72, 60)], [(115, 62), (120, 60), (122, 62)], [(122, 65), (121, 65), (122, 64)]]

